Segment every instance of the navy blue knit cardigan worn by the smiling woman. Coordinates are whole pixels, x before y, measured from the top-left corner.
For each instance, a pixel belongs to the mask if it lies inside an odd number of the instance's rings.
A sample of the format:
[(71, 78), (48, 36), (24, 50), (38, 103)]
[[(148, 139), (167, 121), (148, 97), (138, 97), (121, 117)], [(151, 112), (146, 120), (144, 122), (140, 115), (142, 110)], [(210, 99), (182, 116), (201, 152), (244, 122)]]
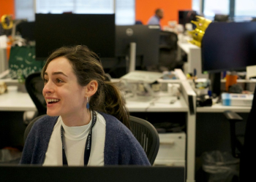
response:
[[(150, 165), (132, 132), (116, 117), (100, 113), (106, 121), (105, 165)], [(58, 116), (43, 116), (34, 123), (23, 148), (20, 164), (42, 165)]]

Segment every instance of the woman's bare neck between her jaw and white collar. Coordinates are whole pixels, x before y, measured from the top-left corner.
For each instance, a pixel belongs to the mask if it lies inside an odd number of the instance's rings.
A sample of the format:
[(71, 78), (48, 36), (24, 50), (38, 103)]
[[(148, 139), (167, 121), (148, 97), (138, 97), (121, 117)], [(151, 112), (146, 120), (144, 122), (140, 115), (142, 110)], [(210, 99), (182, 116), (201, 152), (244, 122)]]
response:
[(72, 114), (61, 116), (62, 121), (67, 127), (79, 127), (89, 124), (91, 121), (91, 111), (86, 109), (86, 112), (81, 114)]

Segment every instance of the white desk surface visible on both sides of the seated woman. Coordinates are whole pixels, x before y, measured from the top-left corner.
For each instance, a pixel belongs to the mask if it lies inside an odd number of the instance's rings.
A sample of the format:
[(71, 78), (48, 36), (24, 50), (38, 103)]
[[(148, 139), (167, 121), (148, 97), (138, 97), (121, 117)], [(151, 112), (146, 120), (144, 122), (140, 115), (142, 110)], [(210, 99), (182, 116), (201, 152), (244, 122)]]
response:
[[(175, 97), (166, 94), (156, 95), (154, 98), (138, 96), (127, 98), (127, 108), (131, 112), (188, 111), (183, 97), (174, 103), (170, 103), (171, 100), (175, 100)], [(6, 92), (0, 95), (0, 111), (37, 111), (37, 108), (27, 92)]]

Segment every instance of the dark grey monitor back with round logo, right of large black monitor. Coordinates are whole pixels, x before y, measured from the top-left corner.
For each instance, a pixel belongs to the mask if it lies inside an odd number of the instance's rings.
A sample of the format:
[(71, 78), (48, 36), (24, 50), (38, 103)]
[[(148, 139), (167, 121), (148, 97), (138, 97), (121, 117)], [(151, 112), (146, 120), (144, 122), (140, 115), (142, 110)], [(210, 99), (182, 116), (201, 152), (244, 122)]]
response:
[(129, 45), (136, 43), (136, 55), (142, 57), (143, 66), (156, 66), (159, 58), (158, 25), (117, 25), (116, 57), (129, 55)]

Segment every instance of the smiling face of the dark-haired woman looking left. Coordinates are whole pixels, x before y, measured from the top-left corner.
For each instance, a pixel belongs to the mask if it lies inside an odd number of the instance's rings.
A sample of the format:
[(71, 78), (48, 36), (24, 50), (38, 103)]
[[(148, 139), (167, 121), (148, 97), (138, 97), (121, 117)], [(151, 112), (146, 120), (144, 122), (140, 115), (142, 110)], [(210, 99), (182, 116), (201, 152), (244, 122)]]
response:
[(86, 111), (86, 87), (78, 84), (67, 58), (60, 57), (50, 61), (44, 79), (42, 93), (49, 116), (79, 116), (80, 112)]

